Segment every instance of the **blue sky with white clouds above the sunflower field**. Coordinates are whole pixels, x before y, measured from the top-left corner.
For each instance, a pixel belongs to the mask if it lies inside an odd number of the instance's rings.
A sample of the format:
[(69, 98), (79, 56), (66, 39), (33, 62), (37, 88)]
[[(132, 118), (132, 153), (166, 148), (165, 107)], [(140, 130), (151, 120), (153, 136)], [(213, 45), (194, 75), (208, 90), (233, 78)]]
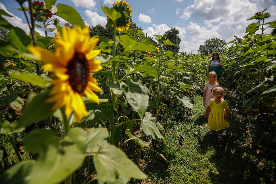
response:
[[(257, 11), (268, 7), (269, 21), (276, 20), (276, 0), (129, 0), (133, 9), (133, 22), (147, 32), (148, 36), (164, 34), (171, 27), (180, 33), (180, 51), (197, 53), (198, 47), (206, 39), (219, 38), (227, 42), (233, 35), (242, 37), (245, 28), (253, 21), (246, 21)], [(114, 0), (57, 0), (58, 3), (74, 7), (87, 25), (106, 24), (101, 5), (111, 7)], [(4, 17), (14, 26), (28, 34), (28, 25), (15, 0), (1, 0), (0, 8), (13, 14)], [(66, 21), (61, 20), (61, 24)], [(37, 30), (43, 35), (42, 30)], [(268, 32), (271, 29), (267, 29)], [(53, 33), (50, 34), (53, 36)]]

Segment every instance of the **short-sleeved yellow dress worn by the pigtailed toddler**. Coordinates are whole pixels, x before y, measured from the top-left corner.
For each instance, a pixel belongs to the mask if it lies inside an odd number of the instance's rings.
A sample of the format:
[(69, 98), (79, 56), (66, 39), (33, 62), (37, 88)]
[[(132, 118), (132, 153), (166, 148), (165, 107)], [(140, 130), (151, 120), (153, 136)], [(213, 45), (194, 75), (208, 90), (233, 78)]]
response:
[(229, 109), (227, 101), (223, 101), (220, 104), (216, 104), (214, 99), (210, 99), (209, 107), (212, 107), (212, 110), (208, 118), (208, 127), (212, 130), (223, 130), (225, 127), (230, 127), (228, 121), (224, 119), (225, 109)]

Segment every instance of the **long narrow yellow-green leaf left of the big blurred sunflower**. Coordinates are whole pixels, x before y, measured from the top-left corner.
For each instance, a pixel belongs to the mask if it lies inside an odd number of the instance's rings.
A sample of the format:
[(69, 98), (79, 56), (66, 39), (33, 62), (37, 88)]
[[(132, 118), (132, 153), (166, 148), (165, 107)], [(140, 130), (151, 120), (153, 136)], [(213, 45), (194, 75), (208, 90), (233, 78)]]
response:
[(46, 81), (44, 78), (42, 78), (39, 75), (34, 75), (30, 73), (20, 73), (18, 71), (10, 72), (9, 74), (13, 78), (24, 81), (27, 84), (31, 83), (31, 84), (37, 85), (38, 87), (41, 87), (41, 88), (45, 88), (46, 84), (48, 83), (48, 81)]

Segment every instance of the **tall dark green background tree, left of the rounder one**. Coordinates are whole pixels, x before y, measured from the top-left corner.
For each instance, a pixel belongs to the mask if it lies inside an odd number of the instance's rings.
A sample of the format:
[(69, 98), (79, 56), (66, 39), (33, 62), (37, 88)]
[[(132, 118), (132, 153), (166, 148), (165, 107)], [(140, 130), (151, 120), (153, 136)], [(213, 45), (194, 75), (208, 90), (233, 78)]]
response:
[(181, 38), (179, 37), (179, 30), (175, 27), (172, 27), (164, 33), (164, 36), (177, 46), (164, 45), (163, 49), (170, 50), (173, 52), (173, 55), (177, 55), (180, 49), (179, 44), (181, 42)]

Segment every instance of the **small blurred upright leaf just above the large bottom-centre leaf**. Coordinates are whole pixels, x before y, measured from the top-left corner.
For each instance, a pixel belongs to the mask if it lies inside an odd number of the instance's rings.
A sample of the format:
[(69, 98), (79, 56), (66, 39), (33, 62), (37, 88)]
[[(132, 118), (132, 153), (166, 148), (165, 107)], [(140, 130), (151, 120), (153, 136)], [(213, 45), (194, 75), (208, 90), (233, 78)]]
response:
[(100, 147), (104, 144), (107, 143), (108, 139), (108, 131), (106, 128), (96, 128), (96, 129), (91, 129), (87, 133), (87, 140), (85, 142), (86, 145), (86, 152), (87, 153), (95, 153), (98, 152)]

